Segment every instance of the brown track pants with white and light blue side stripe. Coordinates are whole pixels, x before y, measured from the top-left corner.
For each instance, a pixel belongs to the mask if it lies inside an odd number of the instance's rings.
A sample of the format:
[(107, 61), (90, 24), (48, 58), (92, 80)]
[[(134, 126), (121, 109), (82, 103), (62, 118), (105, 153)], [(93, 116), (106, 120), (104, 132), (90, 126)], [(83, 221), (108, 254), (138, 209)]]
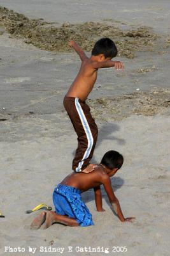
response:
[(85, 101), (66, 96), (63, 103), (78, 136), (78, 148), (72, 168), (75, 172), (81, 172), (93, 156), (98, 134), (97, 125)]

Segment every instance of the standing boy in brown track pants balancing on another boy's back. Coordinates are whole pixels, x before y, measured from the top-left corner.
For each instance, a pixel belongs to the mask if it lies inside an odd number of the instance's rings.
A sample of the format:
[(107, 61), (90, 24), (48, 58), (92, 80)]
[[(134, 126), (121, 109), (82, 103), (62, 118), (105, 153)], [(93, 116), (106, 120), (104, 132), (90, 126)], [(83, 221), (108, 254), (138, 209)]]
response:
[(75, 172), (87, 173), (94, 170), (89, 162), (96, 146), (98, 129), (85, 100), (94, 87), (99, 68), (115, 67), (122, 70), (124, 66), (120, 61), (111, 61), (117, 56), (117, 47), (110, 38), (97, 41), (90, 58), (74, 41), (70, 41), (69, 46), (74, 48), (81, 59), (80, 71), (64, 97), (64, 108), (78, 135), (78, 148), (72, 169)]

